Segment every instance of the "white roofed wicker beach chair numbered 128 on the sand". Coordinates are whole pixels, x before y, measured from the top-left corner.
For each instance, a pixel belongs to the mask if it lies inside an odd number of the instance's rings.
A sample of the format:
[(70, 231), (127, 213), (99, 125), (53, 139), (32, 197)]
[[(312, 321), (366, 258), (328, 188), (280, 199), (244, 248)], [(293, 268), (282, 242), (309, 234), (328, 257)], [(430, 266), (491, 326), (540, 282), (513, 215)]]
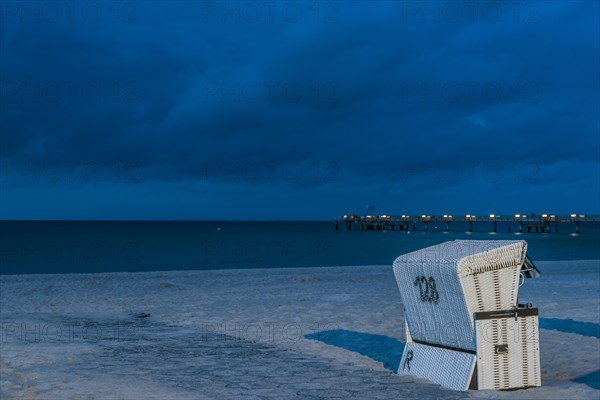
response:
[(526, 252), (525, 241), (456, 240), (398, 257), (398, 374), (455, 390), (540, 386), (537, 309), (517, 299)]

